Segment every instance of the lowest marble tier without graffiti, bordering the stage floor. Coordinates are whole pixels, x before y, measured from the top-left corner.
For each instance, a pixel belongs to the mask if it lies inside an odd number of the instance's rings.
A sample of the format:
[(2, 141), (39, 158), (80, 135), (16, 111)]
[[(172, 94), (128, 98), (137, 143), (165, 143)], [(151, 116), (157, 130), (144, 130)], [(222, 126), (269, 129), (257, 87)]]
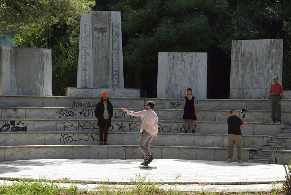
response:
[[(150, 146), (157, 159), (189, 159), (225, 161), (228, 148), (190, 146)], [(250, 149), (242, 148), (242, 159), (249, 158)], [(236, 149), (233, 155), (237, 156)], [(0, 161), (27, 159), (137, 159), (142, 152), (136, 145), (34, 145), (0, 146)]]

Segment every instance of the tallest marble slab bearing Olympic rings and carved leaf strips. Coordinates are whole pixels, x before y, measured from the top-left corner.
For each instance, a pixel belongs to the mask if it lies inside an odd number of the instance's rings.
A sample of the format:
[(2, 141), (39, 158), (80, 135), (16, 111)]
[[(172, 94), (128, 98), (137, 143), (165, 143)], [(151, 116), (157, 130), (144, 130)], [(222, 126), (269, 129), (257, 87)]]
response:
[(124, 88), (120, 12), (81, 15), (77, 88)]

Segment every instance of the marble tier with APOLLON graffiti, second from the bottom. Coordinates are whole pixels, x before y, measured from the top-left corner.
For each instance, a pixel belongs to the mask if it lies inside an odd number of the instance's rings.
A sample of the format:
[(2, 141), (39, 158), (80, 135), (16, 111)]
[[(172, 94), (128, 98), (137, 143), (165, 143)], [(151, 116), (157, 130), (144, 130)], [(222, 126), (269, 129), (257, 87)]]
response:
[[(138, 145), (140, 132), (110, 132), (107, 143)], [(242, 135), (244, 148), (261, 149), (268, 136)], [(99, 132), (0, 132), (1, 146), (25, 145), (98, 145)], [(227, 147), (227, 134), (158, 133), (155, 146)]]

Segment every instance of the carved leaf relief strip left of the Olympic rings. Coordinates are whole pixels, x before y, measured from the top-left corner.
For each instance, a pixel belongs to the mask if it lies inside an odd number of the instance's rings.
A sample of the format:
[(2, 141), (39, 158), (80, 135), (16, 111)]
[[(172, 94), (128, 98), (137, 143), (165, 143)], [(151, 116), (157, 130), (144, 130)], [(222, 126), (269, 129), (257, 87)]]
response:
[(89, 87), (89, 23), (82, 22), (82, 87)]

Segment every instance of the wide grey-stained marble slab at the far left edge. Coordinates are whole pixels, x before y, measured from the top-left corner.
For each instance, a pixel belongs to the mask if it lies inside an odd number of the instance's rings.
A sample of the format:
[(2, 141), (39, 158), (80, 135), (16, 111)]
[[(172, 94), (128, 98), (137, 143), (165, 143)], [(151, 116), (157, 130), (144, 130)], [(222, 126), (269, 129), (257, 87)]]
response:
[(52, 95), (51, 49), (1, 47), (1, 95)]

